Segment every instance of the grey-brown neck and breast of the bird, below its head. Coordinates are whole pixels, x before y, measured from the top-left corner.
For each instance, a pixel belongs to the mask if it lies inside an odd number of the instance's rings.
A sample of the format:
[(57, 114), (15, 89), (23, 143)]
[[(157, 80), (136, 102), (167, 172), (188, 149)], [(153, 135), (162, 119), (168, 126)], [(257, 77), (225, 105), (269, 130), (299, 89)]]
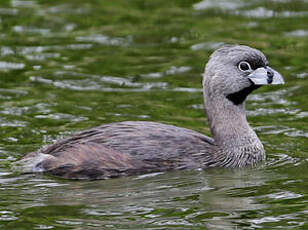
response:
[(222, 155), (220, 163), (237, 167), (263, 160), (263, 145), (247, 122), (245, 102), (235, 104), (224, 95), (210, 97), (205, 93), (204, 97), (211, 132)]

